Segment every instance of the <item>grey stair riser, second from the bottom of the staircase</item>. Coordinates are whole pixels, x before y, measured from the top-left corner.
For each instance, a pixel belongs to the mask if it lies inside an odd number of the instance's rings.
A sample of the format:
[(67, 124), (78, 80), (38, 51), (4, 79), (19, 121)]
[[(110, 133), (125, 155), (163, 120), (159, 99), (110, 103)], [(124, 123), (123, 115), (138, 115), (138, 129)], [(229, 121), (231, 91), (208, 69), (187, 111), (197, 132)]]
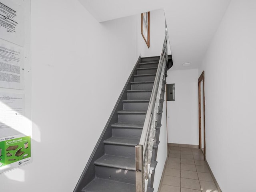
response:
[(108, 145), (105, 144), (105, 154), (135, 158), (135, 146)]

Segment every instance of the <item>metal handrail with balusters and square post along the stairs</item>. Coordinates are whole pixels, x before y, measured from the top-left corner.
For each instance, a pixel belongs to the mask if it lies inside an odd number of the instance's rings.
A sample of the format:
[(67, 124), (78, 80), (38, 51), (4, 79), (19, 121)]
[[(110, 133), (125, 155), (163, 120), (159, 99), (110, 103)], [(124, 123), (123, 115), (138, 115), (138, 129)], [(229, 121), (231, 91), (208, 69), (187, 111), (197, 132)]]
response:
[(166, 78), (166, 62), (168, 61), (167, 39), (168, 32), (166, 28), (166, 36), (164, 38), (162, 53), (158, 62), (156, 78), (154, 80), (152, 94), (150, 96), (148, 110), (140, 137), (140, 143), (135, 146), (136, 192), (145, 192), (148, 184), (152, 152), (154, 143), (156, 142), (155, 136), (158, 112), (160, 109), (160, 100), (161, 97), (163, 97), (162, 85)]

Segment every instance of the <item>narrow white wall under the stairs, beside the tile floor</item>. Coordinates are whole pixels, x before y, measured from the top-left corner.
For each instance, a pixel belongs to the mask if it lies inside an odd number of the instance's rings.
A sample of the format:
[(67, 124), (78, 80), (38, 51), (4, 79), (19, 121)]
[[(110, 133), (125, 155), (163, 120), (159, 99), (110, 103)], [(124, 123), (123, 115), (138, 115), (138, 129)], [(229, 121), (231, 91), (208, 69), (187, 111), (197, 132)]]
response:
[(155, 177), (154, 177), (154, 191), (158, 191), (159, 184), (161, 181), (162, 172), (164, 170), (164, 164), (167, 158), (167, 127), (166, 127), (166, 94), (164, 94), (164, 103), (163, 103), (163, 114), (161, 120), (161, 128), (160, 128), (160, 135), (159, 135), (159, 145), (158, 145), (158, 152), (157, 152), (157, 166), (155, 170)]

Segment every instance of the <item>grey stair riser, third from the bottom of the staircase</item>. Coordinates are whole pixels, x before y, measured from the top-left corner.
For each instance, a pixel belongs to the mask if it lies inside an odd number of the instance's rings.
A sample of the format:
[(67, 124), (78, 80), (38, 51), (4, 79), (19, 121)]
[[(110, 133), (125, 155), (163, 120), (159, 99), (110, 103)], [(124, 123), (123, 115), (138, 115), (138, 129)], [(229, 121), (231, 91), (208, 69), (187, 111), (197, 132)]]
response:
[(126, 128), (112, 129), (113, 137), (140, 139), (141, 133), (142, 133), (142, 129), (126, 129)]

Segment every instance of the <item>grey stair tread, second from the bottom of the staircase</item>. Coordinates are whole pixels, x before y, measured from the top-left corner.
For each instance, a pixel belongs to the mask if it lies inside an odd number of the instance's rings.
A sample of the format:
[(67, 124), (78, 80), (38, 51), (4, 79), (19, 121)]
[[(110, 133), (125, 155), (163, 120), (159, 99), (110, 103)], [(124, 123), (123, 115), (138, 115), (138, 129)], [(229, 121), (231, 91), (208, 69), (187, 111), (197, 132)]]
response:
[[(135, 150), (135, 148), (134, 148)], [(134, 158), (126, 158), (119, 157), (113, 155), (103, 155), (98, 158), (95, 162), (95, 165), (106, 166), (112, 168), (121, 168), (125, 170), (133, 170), (135, 171), (135, 159)]]

